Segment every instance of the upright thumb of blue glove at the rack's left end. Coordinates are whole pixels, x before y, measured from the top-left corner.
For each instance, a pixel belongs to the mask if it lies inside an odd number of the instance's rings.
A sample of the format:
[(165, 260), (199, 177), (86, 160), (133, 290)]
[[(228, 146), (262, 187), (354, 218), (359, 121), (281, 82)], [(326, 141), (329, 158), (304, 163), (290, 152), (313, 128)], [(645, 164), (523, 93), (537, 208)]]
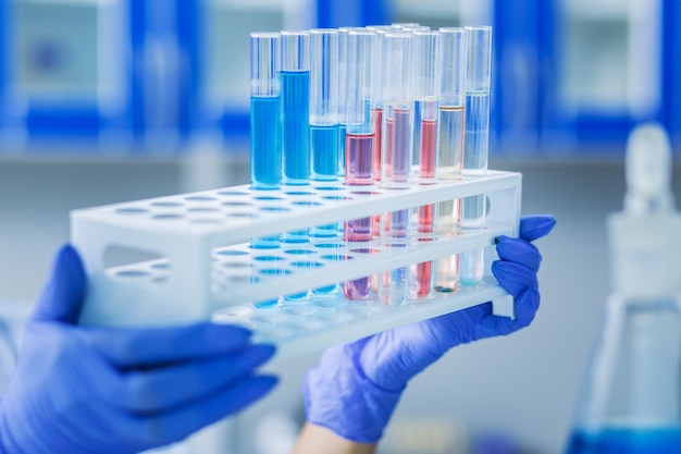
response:
[(85, 297), (85, 270), (78, 253), (66, 244), (57, 253), (52, 275), (33, 314), (37, 321), (75, 323)]

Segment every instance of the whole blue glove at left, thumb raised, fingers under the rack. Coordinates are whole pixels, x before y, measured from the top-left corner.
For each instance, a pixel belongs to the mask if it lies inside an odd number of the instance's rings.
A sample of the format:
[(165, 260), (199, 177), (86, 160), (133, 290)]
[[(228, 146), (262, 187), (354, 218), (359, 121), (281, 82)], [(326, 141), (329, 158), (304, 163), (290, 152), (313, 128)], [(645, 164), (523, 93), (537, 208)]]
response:
[(64, 246), (0, 401), (1, 453), (138, 453), (238, 412), (276, 382), (255, 372), (274, 348), (250, 344), (239, 327), (75, 326), (85, 291), (81, 259)]

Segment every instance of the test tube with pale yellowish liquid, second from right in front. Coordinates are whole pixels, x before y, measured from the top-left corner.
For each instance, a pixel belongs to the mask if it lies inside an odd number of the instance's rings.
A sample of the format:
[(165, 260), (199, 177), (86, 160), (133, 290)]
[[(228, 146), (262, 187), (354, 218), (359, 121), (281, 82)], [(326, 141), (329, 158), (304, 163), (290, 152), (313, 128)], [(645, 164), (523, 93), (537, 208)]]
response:
[[(437, 135), (438, 181), (461, 179), (463, 132), (466, 123), (467, 32), (462, 27), (441, 28), (439, 122)], [(435, 206), (435, 233), (439, 237), (459, 233), (461, 200), (446, 200)], [(459, 286), (459, 256), (438, 258), (433, 262), (433, 287), (454, 292)]]

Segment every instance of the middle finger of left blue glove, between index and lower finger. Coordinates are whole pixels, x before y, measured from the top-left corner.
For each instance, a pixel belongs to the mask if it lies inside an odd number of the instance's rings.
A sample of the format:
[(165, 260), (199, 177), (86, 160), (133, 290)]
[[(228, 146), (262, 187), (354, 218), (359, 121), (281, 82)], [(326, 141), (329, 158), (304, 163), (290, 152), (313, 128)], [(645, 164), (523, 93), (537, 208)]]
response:
[(271, 345), (252, 345), (236, 353), (198, 359), (150, 370), (135, 370), (123, 376), (111, 403), (134, 413), (158, 413), (185, 405), (235, 380), (250, 376), (253, 369), (274, 354)]

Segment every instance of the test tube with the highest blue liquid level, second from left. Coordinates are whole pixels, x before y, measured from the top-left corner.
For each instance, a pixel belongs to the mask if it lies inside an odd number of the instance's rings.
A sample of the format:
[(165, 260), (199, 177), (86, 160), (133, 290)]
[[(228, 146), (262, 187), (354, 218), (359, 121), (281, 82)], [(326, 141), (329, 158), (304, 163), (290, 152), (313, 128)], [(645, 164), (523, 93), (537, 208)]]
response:
[[(282, 156), (283, 183), (306, 185), (310, 180), (310, 34), (281, 32), (282, 35)], [(308, 230), (284, 232), (282, 243), (307, 243)], [(284, 302), (298, 302), (308, 292), (284, 295)]]

